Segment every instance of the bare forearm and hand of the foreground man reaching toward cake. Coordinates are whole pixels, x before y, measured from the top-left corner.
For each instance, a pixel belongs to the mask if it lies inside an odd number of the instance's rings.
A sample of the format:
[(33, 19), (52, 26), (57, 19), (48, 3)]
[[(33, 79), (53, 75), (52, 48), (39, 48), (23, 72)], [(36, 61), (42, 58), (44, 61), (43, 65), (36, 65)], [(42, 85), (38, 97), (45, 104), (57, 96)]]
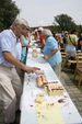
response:
[(16, 67), (19, 67), (19, 68), (25, 70), (26, 72), (34, 72), (34, 71), (36, 71), (36, 70), (39, 69), (39, 68), (36, 68), (36, 67), (28, 67), (28, 66), (25, 66), (25, 65), (22, 64), (20, 60), (17, 60), (16, 58), (14, 58), (14, 57), (12, 56), (12, 54), (9, 53), (9, 52), (3, 52), (3, 56), (4, 56), (4, 59), (5, 59), (8, 63), (10, 63), (10, 64), (12, 64), (12, 65), (14, 65), (14, 66), (16, 66)]

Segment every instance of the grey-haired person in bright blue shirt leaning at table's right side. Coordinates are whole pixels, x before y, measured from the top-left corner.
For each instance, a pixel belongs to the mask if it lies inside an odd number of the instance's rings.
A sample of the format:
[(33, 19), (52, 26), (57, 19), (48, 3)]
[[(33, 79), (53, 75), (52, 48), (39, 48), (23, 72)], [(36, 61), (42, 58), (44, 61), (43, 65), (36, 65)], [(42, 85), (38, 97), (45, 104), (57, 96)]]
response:
[(43, 36), (46, 41), (44, 46), (44, 58), (50, 64), (57, 77), (60, 79), (61, 54), (58, 49), (58, 42), (54, 38), (50, 30), (43, 30)]

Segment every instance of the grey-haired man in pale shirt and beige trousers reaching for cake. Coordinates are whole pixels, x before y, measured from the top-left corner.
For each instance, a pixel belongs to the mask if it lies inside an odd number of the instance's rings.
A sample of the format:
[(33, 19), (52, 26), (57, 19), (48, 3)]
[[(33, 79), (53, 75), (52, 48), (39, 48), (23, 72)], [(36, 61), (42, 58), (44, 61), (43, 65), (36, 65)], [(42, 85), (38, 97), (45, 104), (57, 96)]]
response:
[(3, 102), (0, 114), (3, 113), (3, 120), (7, 124), (15, 120), (15, 111), (20, 106), (22, 94), (22, 82), (15, 67), (23, 69), (27, 74), (39, 69), (22, 64), (16, 57), (17, 38), (24, 35), (27, 27), (26, 20), (15, 19), (11, 29), (0, 33), (0, 101)]

